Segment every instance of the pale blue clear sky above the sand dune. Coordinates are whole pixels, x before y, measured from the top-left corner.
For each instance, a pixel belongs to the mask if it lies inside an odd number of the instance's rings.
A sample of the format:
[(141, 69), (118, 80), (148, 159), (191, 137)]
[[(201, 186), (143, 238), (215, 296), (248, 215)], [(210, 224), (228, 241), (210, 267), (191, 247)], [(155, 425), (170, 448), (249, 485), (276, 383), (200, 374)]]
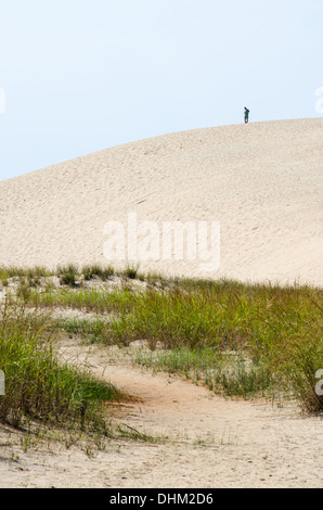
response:
[(323, 0), (0, 0), (0, 180), (244, 106), (322, 117), (322, 18)]

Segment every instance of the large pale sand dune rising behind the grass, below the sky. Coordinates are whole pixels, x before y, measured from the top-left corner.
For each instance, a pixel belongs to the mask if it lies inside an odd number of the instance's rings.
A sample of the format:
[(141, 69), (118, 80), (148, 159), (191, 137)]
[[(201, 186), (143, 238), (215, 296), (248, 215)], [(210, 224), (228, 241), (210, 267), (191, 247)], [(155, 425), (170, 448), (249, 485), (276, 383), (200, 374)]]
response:
[[(196, 129), (103, 150), (0, 182), (0, 264), (107, 264), (104, 225), (218, 221), (219, 270), (142, 270), (323, 283), (323, 118)], [(125, 262), (126, 263), (126, 262)]]

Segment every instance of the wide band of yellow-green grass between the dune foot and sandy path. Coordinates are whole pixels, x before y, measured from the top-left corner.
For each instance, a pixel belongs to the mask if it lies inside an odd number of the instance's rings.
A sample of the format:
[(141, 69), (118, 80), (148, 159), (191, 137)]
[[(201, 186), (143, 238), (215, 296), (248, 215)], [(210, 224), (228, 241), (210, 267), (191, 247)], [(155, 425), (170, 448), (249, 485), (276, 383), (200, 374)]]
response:
[[(113, 268), (64, 268), (86, 281), (107, 282)], [(137, 362), (177, 371), (227, 395), (248, 397), (283, 390), (305, 409), (320, 412), (315, 373), (323, 368), (323, 291), (307, 285), (244, 284), (236, 281), (166, 279), (127, 268), (119, 276), (143, 284), (114, 290), (22, 289), (41, 308), (75, 308), (100, 319), (62, 319), (55, 328), (90, 342), (129, 345), (145, 340), (151, 353)], [(3, 270), (4, 279), (9, 278)], [(156, 349), (158, 347), (158, 349)], [(155, 352), (156, 350), (156, 352)], [(228, 354), (230, 353), (230, 354)]]

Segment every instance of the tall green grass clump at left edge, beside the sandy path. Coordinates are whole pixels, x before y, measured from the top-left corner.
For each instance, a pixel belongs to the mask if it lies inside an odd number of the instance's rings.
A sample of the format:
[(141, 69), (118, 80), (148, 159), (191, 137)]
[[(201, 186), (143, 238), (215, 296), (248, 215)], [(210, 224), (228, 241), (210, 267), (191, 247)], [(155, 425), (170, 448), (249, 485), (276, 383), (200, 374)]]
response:
[(118, 391), (60, 364), (49, 324), (48, 316), (27, 313), (25, 304), (3, 305), (0, 366), (5, 395), (0, 397), (0, 421), (20, 426), (33, 419), (79, 429), (102, 424), (102, 403), (117, 400)]

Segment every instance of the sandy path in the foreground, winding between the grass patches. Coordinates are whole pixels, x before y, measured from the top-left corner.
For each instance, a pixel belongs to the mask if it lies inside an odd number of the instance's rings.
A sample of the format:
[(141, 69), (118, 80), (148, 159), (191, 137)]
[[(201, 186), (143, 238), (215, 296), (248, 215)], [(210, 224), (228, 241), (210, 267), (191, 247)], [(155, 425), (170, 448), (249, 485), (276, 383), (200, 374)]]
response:
[(1, 487), (323, 486), (322, 419), (303, 418), (293, 405), (227, 400), (178, 377), (152, 375), (132, 367), (129, 349), (107, 354), (66, 341), (62, 353), (135, 396), (116, 411), (118, 420), (164, 441), (112, 442), (93, 458), (78, 447), (24, 454), (2, 430)]

